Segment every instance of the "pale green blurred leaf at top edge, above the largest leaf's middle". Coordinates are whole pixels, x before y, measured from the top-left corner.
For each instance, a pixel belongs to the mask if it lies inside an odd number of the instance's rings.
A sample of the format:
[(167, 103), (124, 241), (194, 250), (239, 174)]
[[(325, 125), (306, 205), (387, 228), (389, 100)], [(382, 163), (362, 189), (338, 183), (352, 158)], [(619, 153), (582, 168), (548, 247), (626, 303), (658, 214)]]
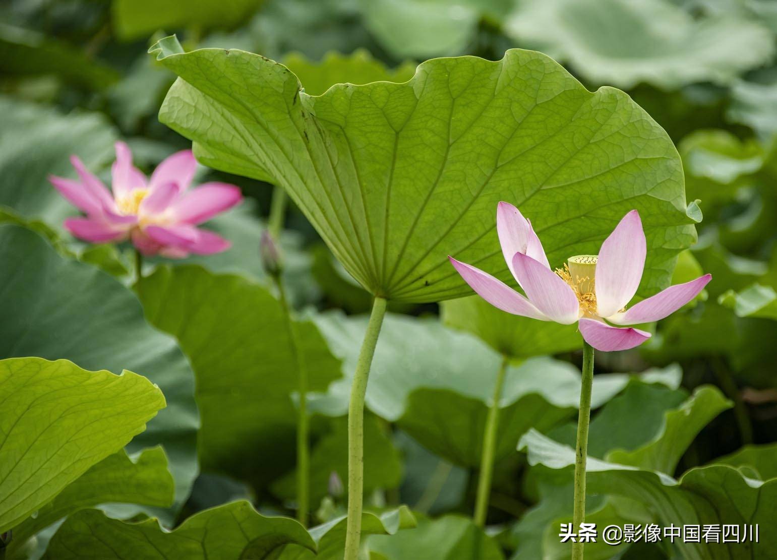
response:
[(483, 16), (500, 19), (510, 0), (361, 0), (364, 24), (396, 58), (462, 54)]

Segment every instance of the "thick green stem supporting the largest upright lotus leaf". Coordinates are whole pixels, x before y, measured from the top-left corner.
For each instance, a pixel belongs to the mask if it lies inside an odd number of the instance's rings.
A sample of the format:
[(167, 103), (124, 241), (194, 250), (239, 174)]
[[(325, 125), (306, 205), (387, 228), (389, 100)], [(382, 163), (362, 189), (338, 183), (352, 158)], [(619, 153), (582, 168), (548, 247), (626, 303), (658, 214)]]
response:
[(344, 560), (357, 560), (361, 539), (361, 500), (364, 492), (364, 395), (370, 375), (372, 356), (378, 343), (386, 301), (375, 297), (372, 302), (370, 322), (361, 343), (356, 363), (354, 381), (350, 388), (348, 404), (348, 524), (345, 537)]

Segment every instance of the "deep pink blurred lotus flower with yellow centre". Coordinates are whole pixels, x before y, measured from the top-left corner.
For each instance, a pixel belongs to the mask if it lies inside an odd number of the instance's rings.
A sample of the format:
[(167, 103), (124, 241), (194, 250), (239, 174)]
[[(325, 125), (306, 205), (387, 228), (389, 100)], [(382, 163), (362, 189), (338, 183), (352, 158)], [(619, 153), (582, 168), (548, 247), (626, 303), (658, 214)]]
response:
[(75, 237), (92, 243), (130, 239), (144, 255), (174, 259), (229, 249), (225, 238), (197, 228), (197, 224), (240, 203), (240, 189), (227, 183), (204, 183), (189, 190), (197, 168), (191, 150), (169, 156), (147, 179), (132, 165), (127, 144), (117, 142), (116, 162), (111, 169), (112, 192), (77, 156), (72, 155), (70, 161), (80, 180), (56, 176), (49, 180), (86, 214), (64, 221), (64, 227)]

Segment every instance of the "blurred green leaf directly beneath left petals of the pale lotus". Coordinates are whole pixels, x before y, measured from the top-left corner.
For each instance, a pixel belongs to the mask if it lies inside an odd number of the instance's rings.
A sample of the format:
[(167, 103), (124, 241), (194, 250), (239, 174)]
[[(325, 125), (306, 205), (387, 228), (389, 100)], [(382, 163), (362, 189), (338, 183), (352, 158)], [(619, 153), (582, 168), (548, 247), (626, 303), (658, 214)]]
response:
[(505, 356), (520, 359), (583, 347), (577, 325), (538, 322), (510, 315), (482, 297), (460, 297), (444, 301), (440, 307), (446, 325), (472, 332)]

